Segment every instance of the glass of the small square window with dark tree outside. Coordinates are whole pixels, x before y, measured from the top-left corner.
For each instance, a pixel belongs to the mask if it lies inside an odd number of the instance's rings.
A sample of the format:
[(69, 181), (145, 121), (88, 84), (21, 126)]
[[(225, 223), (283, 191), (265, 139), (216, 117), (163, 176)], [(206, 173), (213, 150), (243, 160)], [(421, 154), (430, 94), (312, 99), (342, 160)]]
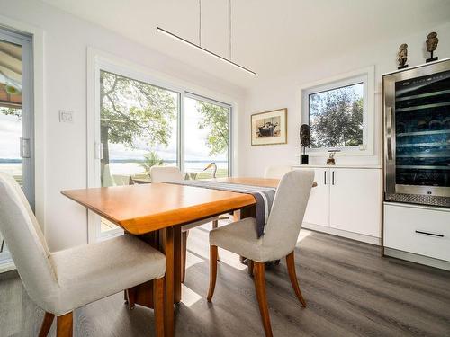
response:
[(310, 96), (312, 147), (363, 144), (363, 98), (345, 87)]

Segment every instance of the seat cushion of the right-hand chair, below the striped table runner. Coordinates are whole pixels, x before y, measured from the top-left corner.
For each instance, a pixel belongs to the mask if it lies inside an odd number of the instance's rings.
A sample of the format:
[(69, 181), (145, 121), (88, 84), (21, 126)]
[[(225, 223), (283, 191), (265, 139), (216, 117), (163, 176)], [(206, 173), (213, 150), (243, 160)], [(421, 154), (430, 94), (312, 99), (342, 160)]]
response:
[(263, 237), (257, 237), (257, 219), (247, 217), (211, 230), (210, 244), (256, 262), (276, 260), (272, 259), (268, 250), (263, 247)]

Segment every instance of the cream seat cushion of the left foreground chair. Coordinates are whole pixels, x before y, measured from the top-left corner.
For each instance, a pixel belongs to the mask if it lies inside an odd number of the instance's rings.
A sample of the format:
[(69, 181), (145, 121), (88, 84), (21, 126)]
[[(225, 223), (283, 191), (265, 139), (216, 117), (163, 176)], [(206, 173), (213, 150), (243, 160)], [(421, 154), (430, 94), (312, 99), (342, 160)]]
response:
[(55, 315), (166, 273), (165, 255), (131, 235), (51, 253), (49, 259), (60, 288)]

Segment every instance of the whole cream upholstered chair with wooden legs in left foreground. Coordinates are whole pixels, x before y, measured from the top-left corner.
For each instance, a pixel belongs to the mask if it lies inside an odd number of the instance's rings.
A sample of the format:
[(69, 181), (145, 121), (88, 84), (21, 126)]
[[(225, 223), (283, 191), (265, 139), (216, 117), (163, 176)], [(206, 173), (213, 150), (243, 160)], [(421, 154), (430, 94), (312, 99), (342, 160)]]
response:
[[(55, 315), (57, 336), (72, 336), (74, 309), (151, 279), (154, 298), (163, 296), (166, 257), (136, 237), (50, 253), (23, 191), (5, 173), (0, 173), (0, 231), (24, 288), (46, 312), (40, 336), (49, 333)], [(157, 336), (164, 335), (162, 301), (155, 303), (155, 328)]]

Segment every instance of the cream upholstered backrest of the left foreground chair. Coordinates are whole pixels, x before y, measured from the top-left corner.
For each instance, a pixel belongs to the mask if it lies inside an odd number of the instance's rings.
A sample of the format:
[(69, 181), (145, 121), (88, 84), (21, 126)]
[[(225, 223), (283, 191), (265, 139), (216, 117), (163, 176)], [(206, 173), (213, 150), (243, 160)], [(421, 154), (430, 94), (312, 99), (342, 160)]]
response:
[(21, 187), (6, 173), (0, 173), (0, 231), (28, 295), (45, 308), (58, 288), (49, 248)]

